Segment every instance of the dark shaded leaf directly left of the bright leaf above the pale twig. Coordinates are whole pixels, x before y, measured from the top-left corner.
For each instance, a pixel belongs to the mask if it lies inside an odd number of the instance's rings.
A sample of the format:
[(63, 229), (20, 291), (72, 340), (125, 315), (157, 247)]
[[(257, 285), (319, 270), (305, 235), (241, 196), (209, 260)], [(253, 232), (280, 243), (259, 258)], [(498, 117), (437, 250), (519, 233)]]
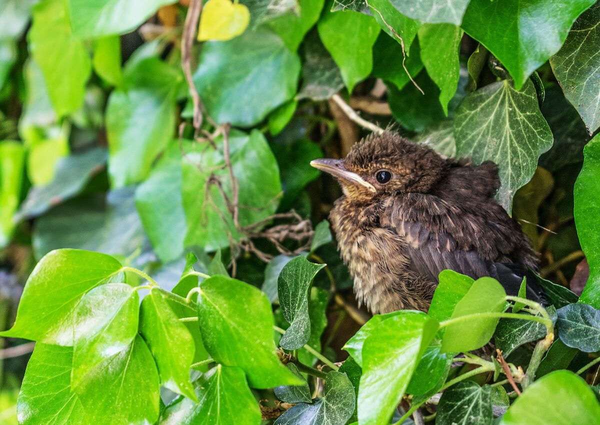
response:
[(343, 86), (340, 68), (337, 67), (316, 32), (311, 32), (304, 41), (302, 86), (296, 99), (326, 100), (340, 91)]

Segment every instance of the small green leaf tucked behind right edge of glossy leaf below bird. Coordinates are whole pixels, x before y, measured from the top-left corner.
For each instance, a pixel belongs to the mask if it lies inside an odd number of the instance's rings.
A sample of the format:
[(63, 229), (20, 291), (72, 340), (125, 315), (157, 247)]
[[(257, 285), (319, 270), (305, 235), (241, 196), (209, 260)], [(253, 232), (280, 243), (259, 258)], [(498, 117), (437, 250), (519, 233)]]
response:
[(448, 376), (453, 357), (441, 349), (439, 343), (427, 347), (406, 388), (407, 393), (420, 396), (438, 389), (437, 384)]

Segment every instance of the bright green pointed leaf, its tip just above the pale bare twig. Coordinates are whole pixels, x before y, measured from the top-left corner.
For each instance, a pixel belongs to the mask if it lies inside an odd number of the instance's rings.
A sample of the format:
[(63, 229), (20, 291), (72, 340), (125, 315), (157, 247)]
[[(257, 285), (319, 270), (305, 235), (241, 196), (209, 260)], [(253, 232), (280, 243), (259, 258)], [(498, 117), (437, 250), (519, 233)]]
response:
[[(317, 29), (351, 93), (356, 83), (364, 80), (373, 69), (373, 44), (379, 34), (379, 25), (370, 16), (359, 12), (327, 11)], [(347, 34), (353, 36), (347, 37)]]

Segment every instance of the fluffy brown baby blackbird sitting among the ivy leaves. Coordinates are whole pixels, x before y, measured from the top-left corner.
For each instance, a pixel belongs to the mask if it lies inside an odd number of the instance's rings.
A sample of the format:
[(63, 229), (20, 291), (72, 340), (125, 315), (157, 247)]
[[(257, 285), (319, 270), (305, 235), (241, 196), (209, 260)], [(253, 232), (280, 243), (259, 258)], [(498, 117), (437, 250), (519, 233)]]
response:
[[(494, 277), (511, 295), (537, 270), (529, 239), (493, 198), (500, 181), (492, 162), (446, 159), (386, 131), (343, 160), (310, 164), (344, 191), (329, 217), (356, 297), (373, 313), (427, 312), (442, 270)], [(541, 301), (527, 281), (527, 297)]]

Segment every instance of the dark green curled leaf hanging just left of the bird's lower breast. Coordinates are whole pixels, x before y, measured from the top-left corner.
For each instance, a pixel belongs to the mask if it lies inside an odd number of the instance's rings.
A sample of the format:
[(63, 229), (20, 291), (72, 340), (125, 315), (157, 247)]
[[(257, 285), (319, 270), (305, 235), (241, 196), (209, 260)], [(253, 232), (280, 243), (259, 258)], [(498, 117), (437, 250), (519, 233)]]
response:
[(310, 318), (308, 317), (308, 289), (325, 264), (314, 264), (305, 256), (297, 256), (287, 263), (278, 278), (277, 294), (283, 317), (290, 324), (281, 337), (280, 345), (296, 350), (308, 342)]

